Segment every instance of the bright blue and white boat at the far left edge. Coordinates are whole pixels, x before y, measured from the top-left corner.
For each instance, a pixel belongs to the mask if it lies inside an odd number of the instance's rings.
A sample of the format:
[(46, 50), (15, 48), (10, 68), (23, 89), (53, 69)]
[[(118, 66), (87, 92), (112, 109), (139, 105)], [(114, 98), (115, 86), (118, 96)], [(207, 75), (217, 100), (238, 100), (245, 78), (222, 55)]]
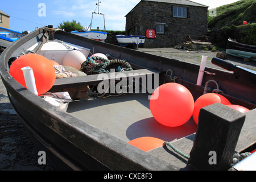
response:
[(0, 27), (0, 47), (8, 47), (21, 38), (22, 33)]

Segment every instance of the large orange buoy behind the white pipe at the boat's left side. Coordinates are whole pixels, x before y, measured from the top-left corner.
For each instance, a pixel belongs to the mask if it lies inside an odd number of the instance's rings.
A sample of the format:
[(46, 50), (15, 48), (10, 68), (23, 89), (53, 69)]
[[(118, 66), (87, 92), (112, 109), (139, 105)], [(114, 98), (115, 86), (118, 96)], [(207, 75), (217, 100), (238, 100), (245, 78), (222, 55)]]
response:
[(20, 56), (11, 64), (9, 70), (10, 75), (13, 76), (19, 84), (27, 88), (21, 70), (23, 67), (31, 67), (33, 69), (38, 95), (46, 93), (52, 88), (52, 85), (55, 82), (55, 69), (53, 68), (51, 61), (46, 57), (30, 53)]

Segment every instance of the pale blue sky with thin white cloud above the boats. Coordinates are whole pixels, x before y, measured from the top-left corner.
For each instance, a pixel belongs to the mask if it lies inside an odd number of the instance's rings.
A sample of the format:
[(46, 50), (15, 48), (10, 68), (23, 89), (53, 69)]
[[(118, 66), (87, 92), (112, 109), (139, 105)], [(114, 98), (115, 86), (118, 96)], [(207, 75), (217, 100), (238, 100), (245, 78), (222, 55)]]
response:
[[(106, 30), (125, 30), (125, 15), (141, 0), (101, 0), (100, 13), (105, 14)], [(192, 0), (209, 9), (226, 5), (238, 0)], [(34, 31), (36, 27), (52, 24), (57, 27), (63, 21), (76, 20), (83, 27), (89, 26), (92, 12), (96, 10), (98, 0), (9, 0), (0, 3), (0, 10), (10, 15), (10, 29), (15, 31)], [(40, 3), (44, 3), (43, 15)], [(97, 12), (97, 10), (96, 10)], [(39, 15), (39, 14), (40, 15)], [(92, 28), (103, 29), (102, 15), (93, 16)]]

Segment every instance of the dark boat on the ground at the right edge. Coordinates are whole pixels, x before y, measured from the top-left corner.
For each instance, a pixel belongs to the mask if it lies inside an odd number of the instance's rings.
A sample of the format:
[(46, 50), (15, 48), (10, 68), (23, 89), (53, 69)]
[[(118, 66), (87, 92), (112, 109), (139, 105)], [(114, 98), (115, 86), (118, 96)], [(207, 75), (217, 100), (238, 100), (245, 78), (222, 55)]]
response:
[(243, 59), (256, 61), (256, 46), (242, 44), (230, 38), (226, 46), (226, 53)]

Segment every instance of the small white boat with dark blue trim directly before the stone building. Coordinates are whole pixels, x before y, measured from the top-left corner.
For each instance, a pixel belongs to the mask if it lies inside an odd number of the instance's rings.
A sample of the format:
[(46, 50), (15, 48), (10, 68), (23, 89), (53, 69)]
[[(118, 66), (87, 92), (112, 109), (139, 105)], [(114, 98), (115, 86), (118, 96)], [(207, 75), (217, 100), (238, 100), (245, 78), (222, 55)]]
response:
[(115, 37), (121, 46), (127, 46), (127, 44), (141, 45), (145, 42), (145, 36), (142, 35), (116, 35)]

